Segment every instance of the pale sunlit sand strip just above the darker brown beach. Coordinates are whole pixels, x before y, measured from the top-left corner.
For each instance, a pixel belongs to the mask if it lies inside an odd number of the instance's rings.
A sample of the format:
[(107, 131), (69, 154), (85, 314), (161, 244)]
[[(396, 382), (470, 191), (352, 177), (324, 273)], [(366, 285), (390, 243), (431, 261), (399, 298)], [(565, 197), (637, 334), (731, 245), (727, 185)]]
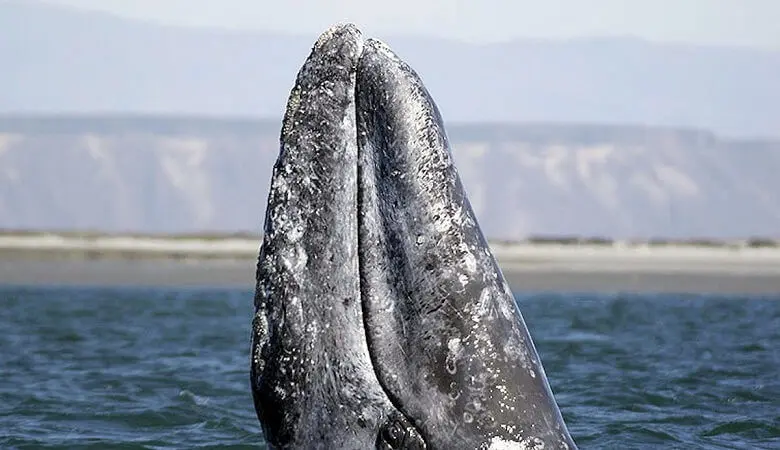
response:
[[(0, 259), (250, 259), (257, 258), (260, 238), (152, 236), (79, 236), (63, 234), (0, 235)], [(558, 266), (583, 270), (648, 271), (756, 270), (780, 274), (780, 246), (681, 246), (626, 244), (538, 244), (491, 242), (502, 267)], [(515, 267), (517, 266), (517, 267)]]

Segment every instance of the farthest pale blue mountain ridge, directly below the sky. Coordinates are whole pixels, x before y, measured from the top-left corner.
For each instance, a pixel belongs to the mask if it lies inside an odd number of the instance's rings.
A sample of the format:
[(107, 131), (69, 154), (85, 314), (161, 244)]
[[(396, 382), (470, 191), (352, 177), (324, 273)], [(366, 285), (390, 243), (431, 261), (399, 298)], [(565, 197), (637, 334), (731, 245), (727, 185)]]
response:
[[(0, 113), (278, 117), (314, 38), (0, 1)], [(780, 138), (780, 51), (629, 38), (385, 39), (449, 121), (635, 123)]]

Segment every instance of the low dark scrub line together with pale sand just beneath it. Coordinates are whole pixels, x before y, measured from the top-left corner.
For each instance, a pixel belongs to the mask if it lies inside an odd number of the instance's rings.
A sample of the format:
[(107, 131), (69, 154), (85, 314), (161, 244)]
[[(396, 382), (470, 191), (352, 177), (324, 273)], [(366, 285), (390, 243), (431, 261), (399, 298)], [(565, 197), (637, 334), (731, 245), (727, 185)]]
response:
[[(254, 259), (261, 235), (237, 233), (139, 234), (97, 231), (0, 230), (1, 259)], [(739, 259), (780, 263), (780, 239), (612, 240), (530, 237), (491, 240), (507, 263), (549, 261)]]

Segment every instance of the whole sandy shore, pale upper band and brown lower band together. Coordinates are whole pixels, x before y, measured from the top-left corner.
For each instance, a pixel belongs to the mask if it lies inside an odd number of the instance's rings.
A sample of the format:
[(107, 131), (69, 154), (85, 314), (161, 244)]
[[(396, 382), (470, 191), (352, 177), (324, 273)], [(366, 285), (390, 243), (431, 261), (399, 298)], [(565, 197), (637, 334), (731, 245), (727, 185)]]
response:
[[(257, 239), (0, 236), (0, 284), (254, 285)], [(780, 249), (501, 244), (516, 291), (780, 294)]]

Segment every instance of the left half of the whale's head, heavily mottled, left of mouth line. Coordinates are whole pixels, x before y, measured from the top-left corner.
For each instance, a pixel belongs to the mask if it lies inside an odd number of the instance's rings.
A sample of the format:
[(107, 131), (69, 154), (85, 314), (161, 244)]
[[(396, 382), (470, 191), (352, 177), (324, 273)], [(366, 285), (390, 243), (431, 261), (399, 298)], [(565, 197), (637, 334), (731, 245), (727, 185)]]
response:
[(374, 374), (357, 258), (352, 26), (320, 37), (290, 94), (257, 267), (251, 383), (272, 448), (365, 449), (404, 427)]

